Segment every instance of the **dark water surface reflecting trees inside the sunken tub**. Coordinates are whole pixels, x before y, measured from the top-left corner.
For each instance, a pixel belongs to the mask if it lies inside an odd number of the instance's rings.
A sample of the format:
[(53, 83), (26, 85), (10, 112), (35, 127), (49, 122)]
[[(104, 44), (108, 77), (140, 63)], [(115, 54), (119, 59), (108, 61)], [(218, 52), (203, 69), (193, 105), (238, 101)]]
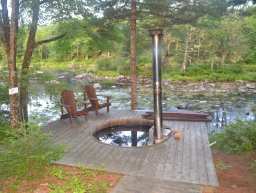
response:
[(148, 145), (149, 126), (113, 126), (102, 129), (94, 137), (113, 146), (138, 147)]

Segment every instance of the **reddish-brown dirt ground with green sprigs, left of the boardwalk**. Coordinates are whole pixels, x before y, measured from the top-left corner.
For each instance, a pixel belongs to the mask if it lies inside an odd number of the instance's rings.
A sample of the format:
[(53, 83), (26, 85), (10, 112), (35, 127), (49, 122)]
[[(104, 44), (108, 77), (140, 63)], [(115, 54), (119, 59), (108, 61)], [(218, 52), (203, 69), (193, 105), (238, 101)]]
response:
[[(79, 174), (81, 170), (77, 167), (72, 167), (72, 166), (62, 166), (62, 165), (56, 165), (57, 168), (62, 167), (64, 171), (68, 173), (77, 173), (74, 175), (74, 177), (79, 177), (80, 179), (83, 180), (85, 185), (92, 186), (90, 184), (98, 185), (100, 182), (104, 181), (108, 184), (108, 188), (102, 189), (100, 186), (98, 187), (98, 190), (91, 190), (89, 192), (110, 192), (115, 185), (119, 182), (119, 180), (123, 177), (122, 174), (115, 174), (115, 173), (110, 173), (110, 172), (100, 172), (96, 170), (89, 170), (90, 172), (86, 172), (83, 174)], [(50, 168), (46, 168), (46, 173), (50, 173)], [(90, 175), (88, 175), (90, 174)], [(53, 191), (51, 188), (52, 186), (64, 186), (65, 184), (68, 183), (67, 179), (65, 179), (65, 172), (61, 174), (64, 176), (62, 179), (57, 178), (56, 175), (52, 174), (46, 174), (43, 178), (41, 179), (35, 179), (35, 180), (19, 180), (17, 178), (11, 178), (7, 180), (7, 182), (0, 187), (0, 193), (11, 193), (11, 192), (33, 192), (33, 193), (48, 193), (50, 191)], [(71, 182), (69, 182), (71, 183)], [(75, 181), (73, 183), (76, 183)], [(77, 186), (74, 184), (74, 186)], [(54, 192), (63, 192), (59, 190), (55, 190)], [(72, 192), (72, 191), (66, 191), (66, 192)], [(77, 190), (79, 192), (79, 190)], [(84, 192), (84, 191), (82, 191)]]

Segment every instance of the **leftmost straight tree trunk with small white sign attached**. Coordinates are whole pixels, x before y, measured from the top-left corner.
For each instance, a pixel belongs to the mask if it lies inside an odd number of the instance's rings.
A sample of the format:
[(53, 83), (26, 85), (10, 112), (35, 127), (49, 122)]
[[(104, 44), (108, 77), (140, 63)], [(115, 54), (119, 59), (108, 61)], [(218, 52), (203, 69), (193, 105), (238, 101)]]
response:
[[(18, 87), (18, 75), (16, 68), (17, 55), (17, 33), (18, 33), (19, 1), (11, 1), (11, 25), (9, 34), (9, 87)], [(7, 50), (7, 49), (6, 49)], [(7, 54), (8, 55), (8, 54)], [(19, 127), (19, 95), (10, 95), (10, 125), (14, 128)]]

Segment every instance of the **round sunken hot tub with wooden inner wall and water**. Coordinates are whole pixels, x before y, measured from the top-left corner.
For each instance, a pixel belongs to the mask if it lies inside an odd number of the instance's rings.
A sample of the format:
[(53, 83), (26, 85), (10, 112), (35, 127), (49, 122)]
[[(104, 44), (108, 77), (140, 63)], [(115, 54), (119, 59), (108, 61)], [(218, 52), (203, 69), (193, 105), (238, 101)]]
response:
[(97, 125), (90, 131), (96, 140), (112, 146), (141, 147), (148, 146), (149, 129), (153, 120), (117, 119)]

